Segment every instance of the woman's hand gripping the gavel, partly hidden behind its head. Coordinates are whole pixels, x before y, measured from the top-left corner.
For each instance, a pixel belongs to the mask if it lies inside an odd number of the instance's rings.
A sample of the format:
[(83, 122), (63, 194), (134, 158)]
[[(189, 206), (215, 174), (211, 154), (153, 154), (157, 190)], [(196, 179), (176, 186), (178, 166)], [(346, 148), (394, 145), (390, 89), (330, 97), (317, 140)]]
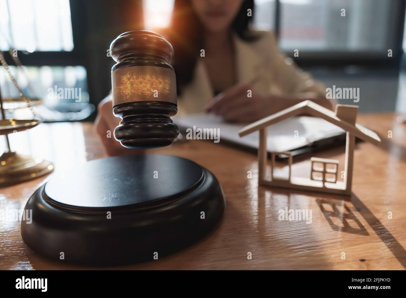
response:
[(119, 125), (121, 119), (113, 115), (113, 99), (111, 94), (99, 103), (97, 110), (95, 129), (108, 155), (128, 155), (143, 152), (143, 150), (125, 148), (121, 146), (119, 141), (114, 139), (114, 129)]

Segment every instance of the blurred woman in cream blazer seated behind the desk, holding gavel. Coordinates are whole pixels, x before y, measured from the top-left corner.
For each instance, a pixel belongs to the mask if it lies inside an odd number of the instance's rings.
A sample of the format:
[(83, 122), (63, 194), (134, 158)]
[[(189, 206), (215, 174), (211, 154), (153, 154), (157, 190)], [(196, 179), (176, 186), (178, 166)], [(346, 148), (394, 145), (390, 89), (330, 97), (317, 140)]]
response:
[[(253, 0), (175, 0), (171, 26), (160, 33), (175, 53), (178, 115), (249, 123), (307, 99), (333, 108), (324, 86), (278, 50), (272, 32), (251, 29), (253, 13)], [(96, 120), (109, 155), (126, 151), (106, 138), (119, 121), (109, 95)]]

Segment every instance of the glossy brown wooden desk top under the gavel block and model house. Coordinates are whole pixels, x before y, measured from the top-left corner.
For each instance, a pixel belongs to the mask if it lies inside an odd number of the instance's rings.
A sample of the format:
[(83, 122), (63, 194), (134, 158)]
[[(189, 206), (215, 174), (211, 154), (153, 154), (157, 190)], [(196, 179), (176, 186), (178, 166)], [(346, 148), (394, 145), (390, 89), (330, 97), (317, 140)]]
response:
[[(393, 114), (361, 115), (382, 145), (358, 143), (353, 195), (340, 197), (257, 187), (257, 157), (244, 151), (192, 140), (151, 152), (186, 157), (212, 171), (227, 200), (224, 218), (208, 237), (158, 260), (125, 269), (404, 269), (406, 268), (406, 124)], [(42, 126), (42, 128), (41, 128)], [(391, 130), (393, 138), (388, 138)], [(30, 131), (31, 151), (49, 154), (59, 175), (77, 163), (103, 157), (91, 123), (41, 124)], [(221, 136), (221, 135), (220, 135)], [(344, 148), (315, 154), (339, 159)], [(309, 176), (309, 161), (293, 170)], [(252, 171), (251, 179), (247, 172)], [(341, 171), (341, 168), (339, 169)], [(0, 208), (24, 208), (49, 177), (0, 190)], [(312, 223), (279, 221), (280, 209), (312, 210)], [(392, 212), (392, 219), (388, 219)], [(41, 239), (38, 239), (41, 241)], [(102, 244), (101, 244), (102, 245)], [(247, 253), (252, 259), (247, 259)], [(345, 259), (342, 259), (345, 253)], [(31, 251), (19, 221), (0, 220), (0, 269), (76, 269)]]

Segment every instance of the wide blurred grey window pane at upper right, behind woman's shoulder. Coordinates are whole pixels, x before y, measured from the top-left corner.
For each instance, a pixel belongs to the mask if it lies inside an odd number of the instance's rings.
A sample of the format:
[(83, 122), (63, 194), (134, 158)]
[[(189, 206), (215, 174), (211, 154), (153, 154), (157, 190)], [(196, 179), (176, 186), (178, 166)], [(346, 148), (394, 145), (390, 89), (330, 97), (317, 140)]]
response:
[(280, 0), (279, 45), (286, 51), (386, 51), (395, 44), (400, 6), (397, 0)]

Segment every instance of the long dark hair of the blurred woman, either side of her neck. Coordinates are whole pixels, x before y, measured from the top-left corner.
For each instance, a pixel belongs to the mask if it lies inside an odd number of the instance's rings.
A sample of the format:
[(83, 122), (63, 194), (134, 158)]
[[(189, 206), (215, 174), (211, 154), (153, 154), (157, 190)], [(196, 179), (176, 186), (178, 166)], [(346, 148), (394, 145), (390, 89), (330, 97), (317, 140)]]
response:
[[(252, 16), (248, 16), (251, 9)], [(254, 0), (244, 0), (238, 11), (231, 29), (246, 41), (253, 41), (257, 36), (250, 30), (253, 20)], [(171, 26), (166, 34), (173, 45), (174, 56), (172, 65), (176, 73), (177, 92), (190, 83), (200, 50), (203, 48), (203, 24), (194, 12), (190, 0), (175, 0)]]

